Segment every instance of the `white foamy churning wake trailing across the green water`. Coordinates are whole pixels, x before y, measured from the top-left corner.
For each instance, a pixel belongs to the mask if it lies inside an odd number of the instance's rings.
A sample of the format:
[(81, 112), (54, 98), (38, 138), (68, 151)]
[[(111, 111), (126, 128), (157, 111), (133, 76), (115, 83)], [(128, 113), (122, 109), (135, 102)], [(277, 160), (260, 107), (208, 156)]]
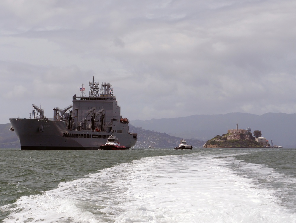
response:
[(146, 157), (103, 168), (2, 206), (10, 213), (3, 222), (296, 222), (288, 205), (295, 195), (287, 191), (295, 178), (236, 153)]

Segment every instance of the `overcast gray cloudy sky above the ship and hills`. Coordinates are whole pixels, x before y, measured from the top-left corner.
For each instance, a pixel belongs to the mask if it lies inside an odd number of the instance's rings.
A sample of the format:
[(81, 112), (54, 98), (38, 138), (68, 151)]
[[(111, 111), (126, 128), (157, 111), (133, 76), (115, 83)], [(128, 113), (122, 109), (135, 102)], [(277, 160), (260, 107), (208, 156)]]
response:
[[(0, 124), (88, 81), (130, 120), (296, 113), (296, 1), (0, 2)], [(272, 121), (272, 120), (271, 120)]]

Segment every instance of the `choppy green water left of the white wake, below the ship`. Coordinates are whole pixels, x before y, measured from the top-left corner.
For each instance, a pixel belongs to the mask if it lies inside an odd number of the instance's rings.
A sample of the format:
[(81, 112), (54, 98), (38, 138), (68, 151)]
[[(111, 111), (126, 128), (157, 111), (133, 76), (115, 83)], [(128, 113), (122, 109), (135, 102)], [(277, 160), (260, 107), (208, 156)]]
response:
[(24, 195), (54, 189), (60, 182), (142, 157), (190, 154), (197, 150), (129, 149), (125, 151), (22, 151), (0, 149), (0, 205)]

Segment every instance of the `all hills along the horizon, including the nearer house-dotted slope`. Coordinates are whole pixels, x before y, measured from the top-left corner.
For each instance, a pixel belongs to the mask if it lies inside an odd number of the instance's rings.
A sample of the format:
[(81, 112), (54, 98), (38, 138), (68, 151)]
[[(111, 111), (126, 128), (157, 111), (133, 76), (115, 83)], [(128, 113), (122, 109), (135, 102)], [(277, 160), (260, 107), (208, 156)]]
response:
[[(130, 131), (138, 133), (136, 147), (152, 144), (158, 148), (176, 146), (181, 138), (188, 144), (201, 147), (216, 135), (227, 133), (228, 129), (251, 128), (260, 130), (273, 145), (284, 148), (296, 148), (296, 114), (266, 113), (253, 115), (248, 113), (228, 113), (225, 115), (193, 115), (180, 118), (161, 118), (130, 121)], [(10, 123), (0, 124), (0, 148), (20, 148), (15, 133), (9, 132)]]

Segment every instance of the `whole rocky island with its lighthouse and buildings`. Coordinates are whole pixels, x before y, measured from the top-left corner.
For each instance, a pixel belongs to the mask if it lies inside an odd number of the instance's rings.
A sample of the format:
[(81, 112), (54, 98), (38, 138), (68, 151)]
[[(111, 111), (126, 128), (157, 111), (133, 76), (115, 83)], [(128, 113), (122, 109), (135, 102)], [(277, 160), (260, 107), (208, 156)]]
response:
[(281, 148), (280, 146), (273, 146), (272, 140), (269, 144), (266, 138), (261, 137), (261, 131), (255, 130), (253, 134), (254, 136), (252, 136), (251, 128), (239, 129), (237, 124), (236, 129), (228, 129), (226, 134), (216, 135), (213, 139), (208, 140), (203, 148)]

